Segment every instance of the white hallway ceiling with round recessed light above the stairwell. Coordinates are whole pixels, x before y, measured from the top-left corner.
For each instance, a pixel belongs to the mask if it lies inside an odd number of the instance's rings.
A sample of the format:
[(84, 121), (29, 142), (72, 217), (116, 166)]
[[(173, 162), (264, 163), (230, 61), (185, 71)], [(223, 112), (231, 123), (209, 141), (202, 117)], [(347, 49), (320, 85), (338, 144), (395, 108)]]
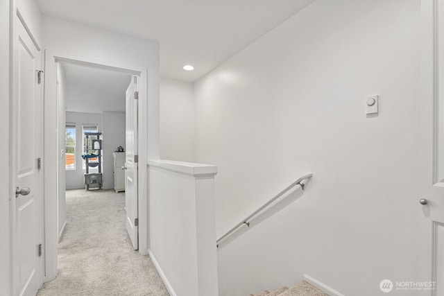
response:
[(313, 1), (37, 0), (44, 15), (159, 42), (160, 76), (188, 82)]

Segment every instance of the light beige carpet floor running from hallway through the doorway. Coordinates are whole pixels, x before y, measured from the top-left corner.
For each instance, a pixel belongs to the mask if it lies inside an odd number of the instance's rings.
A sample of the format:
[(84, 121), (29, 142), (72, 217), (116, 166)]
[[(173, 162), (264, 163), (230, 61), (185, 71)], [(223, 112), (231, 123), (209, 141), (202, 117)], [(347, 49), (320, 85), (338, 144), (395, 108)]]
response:
[(124, 193), (67, 191), (58, 276), (37, 295), (169, 295), (151, 259), (133, 251), (124, 207)]

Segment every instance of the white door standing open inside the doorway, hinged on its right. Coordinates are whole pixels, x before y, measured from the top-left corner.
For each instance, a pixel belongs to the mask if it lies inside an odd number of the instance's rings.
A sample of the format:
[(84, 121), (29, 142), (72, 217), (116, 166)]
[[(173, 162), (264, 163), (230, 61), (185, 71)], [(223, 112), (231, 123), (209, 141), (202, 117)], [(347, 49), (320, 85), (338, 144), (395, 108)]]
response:
[(138, 242), (138, 198), (137, 198), (137, 76), (133, 76), (126, 89), (126, 159), (125, 159), (125, 206), (126, 231), (134, 250)]

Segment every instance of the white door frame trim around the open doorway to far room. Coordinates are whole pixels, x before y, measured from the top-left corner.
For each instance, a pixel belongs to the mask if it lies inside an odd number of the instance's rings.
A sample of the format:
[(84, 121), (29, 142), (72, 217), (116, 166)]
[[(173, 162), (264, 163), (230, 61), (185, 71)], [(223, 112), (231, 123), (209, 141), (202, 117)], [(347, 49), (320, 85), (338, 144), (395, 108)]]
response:
[[(54, 55), (51, 51), (45, 54), (45, 91), (44, 91), (44, 252), (45, 272), (44, 281), (50, 281), (57, 276), (57, 253), (58, 253), (58, 161), (60, 160), (60, 147), (58, 147), (58, 127), (57, 119), (60, 114), (57, 110), (56, 81), (57, 71), (56, 63), (81, 64), (87, 67), (96, 67), (98, 69), (108, 69), (112, 71), (121, 71), (139, 76), (139, 118), (145, 116), (145, 120), (139, 121), (139, 254), (148, 254), (148, 186), (147, 184), (147, 163), (148, 163), (148, 126), (146, 121), (147, 114), (147, 73), (148, 69), (133, 70), (114, 67), (112, 64), (97, 64), (85, 60), (76, 60), (67, 57)], [(65, 123), (62, 123), (65, 126)], [(52, 131), (52, 132), (49, 132)], [(145, 137), (140, 137), (144, 134)], [(65, 175), (60, 176), (65, 177)], [(129, 246), (128, 246), (129, 247)]]

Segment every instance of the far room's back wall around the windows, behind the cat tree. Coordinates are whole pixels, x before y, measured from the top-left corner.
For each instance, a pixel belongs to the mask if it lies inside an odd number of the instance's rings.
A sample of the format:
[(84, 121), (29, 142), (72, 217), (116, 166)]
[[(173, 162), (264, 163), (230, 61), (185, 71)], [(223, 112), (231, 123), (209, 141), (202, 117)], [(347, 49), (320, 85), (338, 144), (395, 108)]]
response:
[[(85, 174), (85, 169), (83, 169), (83, 125), (97, 125), (99, 132), (102, 131), (102, 114), (97, 113), (84, 113), (84, 112), (66, 112), (66, 122), (76, 123), (76, 169), (75, 170), (65, 170), (66, 171), (66, 189), (80, 189), (85, 188), (85, 180), (83, 175)], [(65, 139), (65, 135), (64, 135)], [(105, 140), (103, 140), (105, 142)], [(64, 143), (65, 145), (65, 143)], [(94, 168), (94, 171), (97, 171)], [(105, 178), (105, 173), (103, 173), (103, 178)]]

